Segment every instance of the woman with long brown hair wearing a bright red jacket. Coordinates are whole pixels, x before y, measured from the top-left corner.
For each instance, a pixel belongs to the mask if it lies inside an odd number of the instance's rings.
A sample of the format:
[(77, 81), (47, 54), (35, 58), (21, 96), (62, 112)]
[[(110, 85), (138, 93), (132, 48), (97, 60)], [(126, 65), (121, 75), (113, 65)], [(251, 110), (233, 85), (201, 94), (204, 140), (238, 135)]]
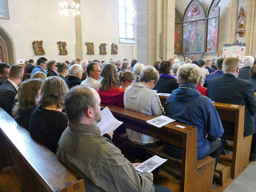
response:
[(124, 90), (119, 88), (116, 67), (107, 63), (101, 69), (101, 76), (103, 79), (99, 88), (96, 89), (101, 98), (101, 103), (124, 107)]

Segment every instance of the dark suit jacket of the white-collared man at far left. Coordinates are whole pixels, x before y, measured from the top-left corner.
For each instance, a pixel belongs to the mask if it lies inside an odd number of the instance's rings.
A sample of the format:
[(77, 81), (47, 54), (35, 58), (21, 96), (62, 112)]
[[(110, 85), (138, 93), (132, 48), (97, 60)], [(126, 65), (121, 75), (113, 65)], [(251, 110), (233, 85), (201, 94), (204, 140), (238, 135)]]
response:
[(0, 107), (4, 109), (9, 115), (12, 116), (12, 103), (17, 94), (15, 87), (12, 83), (6, 80), (0, 86)]

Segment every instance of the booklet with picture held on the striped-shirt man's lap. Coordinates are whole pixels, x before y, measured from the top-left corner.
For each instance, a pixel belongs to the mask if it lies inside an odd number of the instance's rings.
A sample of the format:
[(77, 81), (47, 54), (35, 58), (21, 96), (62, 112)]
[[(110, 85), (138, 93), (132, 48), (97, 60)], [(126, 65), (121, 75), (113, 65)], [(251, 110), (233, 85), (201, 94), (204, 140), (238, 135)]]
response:
[(140, 172), (152, 172), (155, 168), (162, 165), (164, 162), (166, 162), (167, 159), (163, 159), (161, 157), (158, 157), (157, 155), (151, 157), (150, 159), (144, 161), (143, 163), (137, 165), (135, 169)]

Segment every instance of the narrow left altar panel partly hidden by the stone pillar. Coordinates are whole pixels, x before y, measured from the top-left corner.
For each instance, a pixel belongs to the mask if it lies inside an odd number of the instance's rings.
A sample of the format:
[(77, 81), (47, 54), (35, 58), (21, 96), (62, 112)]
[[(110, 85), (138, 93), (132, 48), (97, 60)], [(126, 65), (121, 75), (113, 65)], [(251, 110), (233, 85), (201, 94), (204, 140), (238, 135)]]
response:
[(180, 31), (181, 31), (181, 18), (180, 14), (175, 9), (175, 29), (174, 29), (174, 53), (180, 53), (181, 50), (181, 38), (180, 38)]

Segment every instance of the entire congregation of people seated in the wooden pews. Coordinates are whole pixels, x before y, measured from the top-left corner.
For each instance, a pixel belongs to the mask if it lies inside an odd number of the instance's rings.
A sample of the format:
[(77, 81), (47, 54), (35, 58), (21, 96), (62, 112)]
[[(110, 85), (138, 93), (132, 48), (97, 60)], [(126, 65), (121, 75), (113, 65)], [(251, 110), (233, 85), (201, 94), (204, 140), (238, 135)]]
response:
[[(96, 126), (101, 104), (148, 116), (165, 115), (196, 127), (197, 160), (211, 156), (214, 170), (225, 153), (224, 135), (234, 136), (234, 123), (220, 118), (213, 101), (245, 106), (244, 137), (252, 135), (250, 160), (256, 161), (256, 67), (251, 56), (242, 59), (241, 69), (233, 57), (188, 59), (183, 65), (170, 58), (154, 66), (135, 58), (130, 63), (127, 58), (61, 63), (40, 57), (36, 66), (32, 59), (25, 63), (25, 69), (0, 63), (0, 107), (80, 175), (86, 191), (173, 190), (154, 184), (157, 171), (135, 170), (140, 163), (130, 163), (115, 146), (118, 139), (114, 138), (121, 134), (134, 144), (131, 149), (163, 146), (163, 152), (175, 159), (182, 159), (185, 149), (126, 124), (121, 131), (101, 136)], [(25, 80), (24, 72), (30, 78)], [(157, 93), (170, 94), (164, 105)], [(212, 179), (213, 171), (208, 176)]]

